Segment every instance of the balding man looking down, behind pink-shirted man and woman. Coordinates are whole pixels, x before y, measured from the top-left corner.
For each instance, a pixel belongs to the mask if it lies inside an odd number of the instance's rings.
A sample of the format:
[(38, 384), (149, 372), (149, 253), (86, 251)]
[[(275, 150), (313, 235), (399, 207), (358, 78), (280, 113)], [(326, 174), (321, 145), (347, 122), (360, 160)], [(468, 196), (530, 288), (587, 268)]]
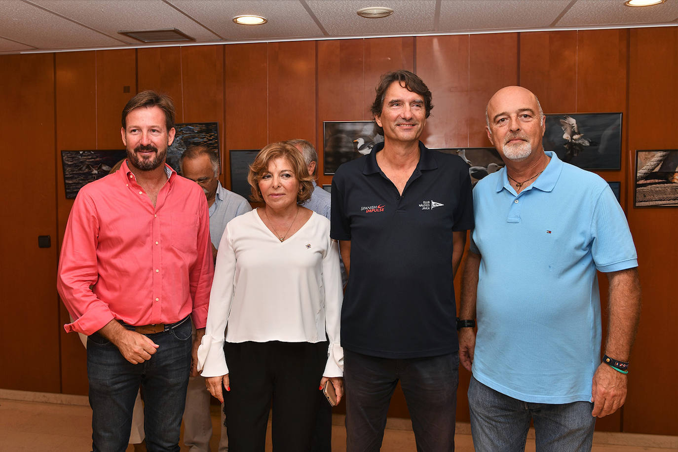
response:
[[(210, 239), (212, 255), (216, 259), (221, 236), (226, 223), (238, 215), (252, 210), (250, 203), (239, 194), (222, 187), (219, 182), (220, 161), (217, 152), (205, 146), (188, 146), (179, 160), (182, 176), (196, 182), (205, 192), (207, 206), (210, 209)], [(195, 340), (195, 330), (193, 331)], [(210, 415), (210, 394), (205, 391), (205, 382), (195, 368), (191, 368), (186, 391), (186, 409), (184, 410), (184, 445), (191, 452), (210, 451), (212, 437), (212, 417)], [(223, 413), (223, 406), (222, 406)], [(222, 414), (222, 429), (218, 450), (228, 450), (225, 419)]]

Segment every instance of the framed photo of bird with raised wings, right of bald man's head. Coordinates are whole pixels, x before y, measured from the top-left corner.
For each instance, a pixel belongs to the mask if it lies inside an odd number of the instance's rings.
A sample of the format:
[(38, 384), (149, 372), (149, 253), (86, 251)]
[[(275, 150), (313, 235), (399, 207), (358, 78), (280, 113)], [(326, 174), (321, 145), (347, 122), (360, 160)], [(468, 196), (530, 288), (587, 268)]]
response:
[(620, 169), (621, 113), (546, 115), (544, 150), (583, 169)]

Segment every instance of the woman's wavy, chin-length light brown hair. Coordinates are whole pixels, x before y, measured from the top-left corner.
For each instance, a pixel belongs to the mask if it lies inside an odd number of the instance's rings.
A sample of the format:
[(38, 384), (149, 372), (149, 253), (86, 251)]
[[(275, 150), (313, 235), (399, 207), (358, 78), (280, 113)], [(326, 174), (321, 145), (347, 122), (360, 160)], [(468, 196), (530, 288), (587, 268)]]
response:
[(252, 201), (264, 201), (259, 190), (259, 181), (268, 171), (268, 163), (278, 158), (283, 158), (290, 162), (292, 171), (294, 171), (294, 177), (299, 181), (300, 192), (297, 194), (297, 204), (307, 201), (311, 197), (311, 192), (313, 192), (313, 182), (311, 182), (313, 177), (308, 174), (308, 167), (302, 153), (287, 142), (267, 144), (259, 151), (254, 162), (250, 165), (247, 182), (250, 182), (252, 187)]

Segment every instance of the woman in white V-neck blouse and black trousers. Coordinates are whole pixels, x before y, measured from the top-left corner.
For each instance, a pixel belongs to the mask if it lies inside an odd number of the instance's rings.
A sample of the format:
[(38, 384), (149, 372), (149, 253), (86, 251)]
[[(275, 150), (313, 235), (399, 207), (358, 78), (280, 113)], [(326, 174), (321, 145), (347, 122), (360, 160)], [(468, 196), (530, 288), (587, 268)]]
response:
[(306, 451), (317, 391), (330, 380), (343, 393), (338, 246), (330, 221), (300, 206), (313, 185), (294, 146), (268, 144), (247, 180), (264, 207), (226, 225), (199, 368), (224, 402), (229, 450), (264, 451), (273, 400), (275, 450)]

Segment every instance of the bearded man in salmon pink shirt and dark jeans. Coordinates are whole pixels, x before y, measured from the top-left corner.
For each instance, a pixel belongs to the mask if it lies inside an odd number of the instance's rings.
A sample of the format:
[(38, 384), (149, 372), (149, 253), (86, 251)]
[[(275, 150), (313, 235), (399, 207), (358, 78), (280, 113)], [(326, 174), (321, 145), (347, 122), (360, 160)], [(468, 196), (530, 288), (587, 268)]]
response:
[[(186, 385), (205, 331), (214, 263), (203, 190), (165, 164), (174, 105), (143, 91), (127, 102), (127, 159), (79, 191), (68, 218), (58, 291), (87, 339), (92, 449), (127, 447), (139, 385), (146, 447), (179, 451)], [(195, 347), (197, 348), (197, 347)]]

